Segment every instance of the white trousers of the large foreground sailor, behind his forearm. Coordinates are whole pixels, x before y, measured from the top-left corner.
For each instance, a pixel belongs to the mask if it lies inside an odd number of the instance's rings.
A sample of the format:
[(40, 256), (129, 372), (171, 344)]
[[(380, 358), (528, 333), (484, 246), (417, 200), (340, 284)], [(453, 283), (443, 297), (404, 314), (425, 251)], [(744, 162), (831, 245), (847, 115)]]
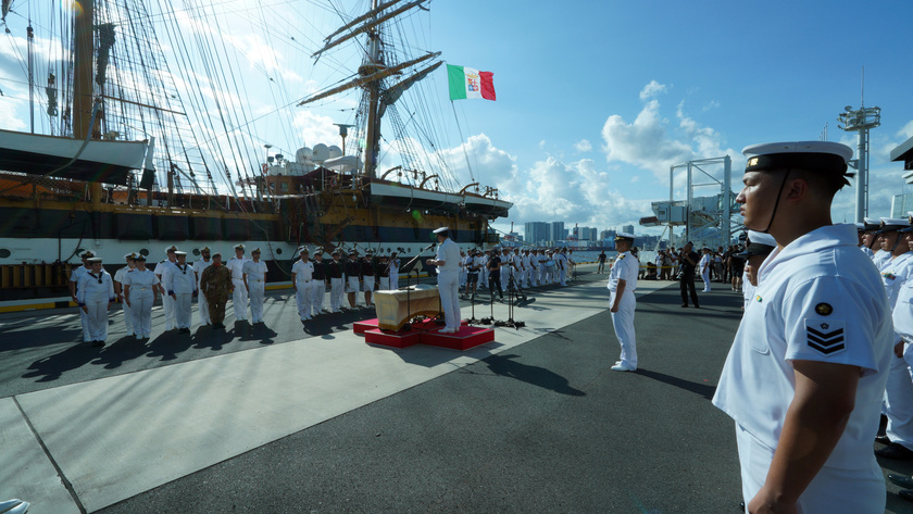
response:
[[(741, 466), (745, 504), (761, 490), (774, 459), (774, 450), (736, 423), (736, 443)], [(885, 512), (885, 478), (875, 454), (862, 457), (858, 469), (822, 467), (797, 502), (800, 514), (881, 514)]]

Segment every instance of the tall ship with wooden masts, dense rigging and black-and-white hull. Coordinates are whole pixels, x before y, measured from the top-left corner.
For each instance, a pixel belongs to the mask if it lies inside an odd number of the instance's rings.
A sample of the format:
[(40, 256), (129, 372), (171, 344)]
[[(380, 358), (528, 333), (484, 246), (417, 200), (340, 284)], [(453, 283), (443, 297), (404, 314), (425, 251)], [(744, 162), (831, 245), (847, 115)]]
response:
[[(455, 177), (445, 147), (429, 137), (435, 127), (416, 116), (440, 52), (395, 36), (405, 33), (403, 17), (427, 15), (429, 0), (337, 11), (345, 24), (312, 46), (310, 59), (348, 77), (286, 106), (359, 98), (340, 110), (339, 145), (301, 145), (288, 156), (248, 129), (263, 116), (242, 99), (260, 92), (246, 89), (236, 63), (218, 59), (229, 37), (213, 28), (220, 2), (162, 1), (157, 12), (141, 0), (61, 3), (51, 16), (55, 37), (36, 38), (28, 10), (22, 64), (30, 127), (0, 129), (0, 301), (65, 301), (86, 250), (113, 271), (133, 251), (150, 263), (172, 245), (188, 260), (203, 247), (227, 259), (245, 243), (261, 249), (267, 280), (283, 283), (301, 246), (408, 259), (439, 226), (451, 227), (462, 248), (498, 241), (489, 223), (512, 204)], [(4, 29), (15, 16), (24, 22), (26, 4), (3, 1)], [(9, 34), (2, 45), (22, 40)], [(360, 62), (334, 60), (346, 48)]]

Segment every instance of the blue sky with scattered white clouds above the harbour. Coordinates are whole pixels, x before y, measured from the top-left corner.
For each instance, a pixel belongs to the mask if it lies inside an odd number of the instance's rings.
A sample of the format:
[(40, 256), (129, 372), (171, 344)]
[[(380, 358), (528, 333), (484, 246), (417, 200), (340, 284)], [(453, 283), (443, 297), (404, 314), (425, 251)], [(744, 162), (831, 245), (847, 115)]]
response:
[[(349, 13), (367, 3), (333, 2)], [(25, 5), (14, 2), (17, 12)], [(268, 116), (338, 78), (333, 60), (315, 65), (309, 57), (338, 16), (326, 2), (222, 5), (237, 11), (220, 29), (250, 50), (238, 60), (250, 88), (270, 91), (243, 100), (273, 126), (257, 137), (287, 153), (299, 141), (338, 143), (332, 123), (347, 121), (338, 104)], [(887, 215), (890, 197), (904, 189), (902, 165), (888, 153), (913, 136), (908, 1), (432, 0), (429, 7), (410, 22), (416, 45), (442, 51), (448, 63), (495, 73), (497, 102), (454, 106), (475, 177), (515, 203), (498, 228), (529, 221), (636, 225), (651, 214), (651, 201), (668, 199), (671, 164), (728, 154), (737, 190), (745, 146), (820, 139), (825, 124), (829, 140), (855, 148), (855, 135), (839, 130), (836, 116), (845, 105), (860, 106), (863, 66), (865, 104), (881, 108), (881, 126), (872, 131), (870, 215)], [(10, 20), (11, 27), (20, 22)], [(295, 45), (283, 42), (288, 35), (297, 36)], [(12, 98), (22, 91), (10, 82), (17, 41), (0, 39), (0, 89), (8, 96), (0, 98), (0, 128), (21, 129), (27, 120)], [(272, 84), (257, 85), (268, 77)], [(452, 122), (442, 70), (428, 88)], [(341, 102), (351, 108), (354, 98)], [(443, 151), (465, 185), (459, 137), (447, 134)], [(677, 199), (683, 186), (676, 180)], [(853, 188), (838, 195), (835, 221), (852, 217), (853, 201)]]

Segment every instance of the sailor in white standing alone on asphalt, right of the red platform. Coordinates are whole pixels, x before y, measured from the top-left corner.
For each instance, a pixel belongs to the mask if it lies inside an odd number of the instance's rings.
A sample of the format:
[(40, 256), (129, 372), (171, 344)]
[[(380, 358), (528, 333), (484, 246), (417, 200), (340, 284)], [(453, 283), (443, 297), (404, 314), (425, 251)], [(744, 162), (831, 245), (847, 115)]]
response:
[(637, 308), (637, 301), (634, 298), (634, 291), (637, 290), (637, 272), (640, 266), (637, 259), (630, 254), (631, 245), (634, 245), (634, 235), (618, 233), (615, 236), (618, 258), (609, 269), (608, 288), (612, 292), (609, 298), (612, 326), (615, 328), (618, 344), (622, 346), (618, 362), (612, 366), (612, 369), (616, 372), (637, 369), (637, 337), (634, 333), (634, 311)]

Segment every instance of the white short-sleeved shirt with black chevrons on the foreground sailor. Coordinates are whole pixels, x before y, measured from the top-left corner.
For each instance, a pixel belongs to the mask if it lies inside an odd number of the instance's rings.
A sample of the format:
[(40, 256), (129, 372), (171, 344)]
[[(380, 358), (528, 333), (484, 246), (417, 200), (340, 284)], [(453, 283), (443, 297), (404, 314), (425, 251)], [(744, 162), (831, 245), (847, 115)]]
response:
[(890, 309), (878, 273), (856, 249), (854, 225), (813, 230), (759, 269), (713, 404), (775, 449), (796, 393), (791, 361), (862, 368), (855, 409), (826, 466), (867, 466), (892, 354)]

